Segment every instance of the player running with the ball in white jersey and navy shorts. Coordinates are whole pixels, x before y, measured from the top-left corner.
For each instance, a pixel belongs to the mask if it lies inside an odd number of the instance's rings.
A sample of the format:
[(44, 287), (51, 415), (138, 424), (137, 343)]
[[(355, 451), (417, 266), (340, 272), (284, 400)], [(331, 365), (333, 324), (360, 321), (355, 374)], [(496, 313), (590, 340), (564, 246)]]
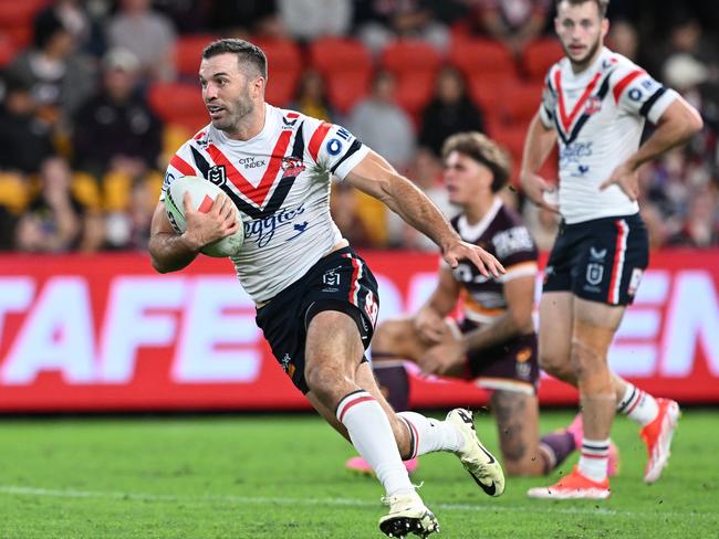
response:
[(389, 505), (379, 519), (383, 532), (438, 531), (400, 454), (452, 452), (487, 494), (502, 494), (501, 466), (479, 443), (471, 412), (452, 410), (447, 421), (417, 415), (409, 423), (377, 389), (364, 358), (377, 318), (377, 283), (332, 221), (332, 176), (430, 236), (450, 266), (469, 260), (499, 276), (501, 264), (461, 241), (421, 191), (346, 129), (267, 104), (267, 59), (258, 46), (209, 44), (199, 80), (211, 123), (173, 157), (164, 193), (175, 178), (201, 176), (226, 195), (207, 213), (194, 211), (187, 195), (187, 229), (176, 234), (163, 194), (152, 223), (154, 267), (184, 268), (204, 245), (232, 234), (240, 212), (244, 244), (232, 262), (257, 304), (257, 324), (298, 389), (371, 463)]

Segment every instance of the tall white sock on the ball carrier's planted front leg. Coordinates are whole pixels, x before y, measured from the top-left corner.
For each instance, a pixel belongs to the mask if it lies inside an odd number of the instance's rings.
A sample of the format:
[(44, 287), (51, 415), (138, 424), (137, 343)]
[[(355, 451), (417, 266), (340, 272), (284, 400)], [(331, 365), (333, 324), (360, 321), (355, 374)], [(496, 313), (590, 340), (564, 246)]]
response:
[(340, 401), (335, 413), (347, 427), (357, 453), (375, 471), (387, 496), (414, 493), (392, 425), (379, 403), (364, 390), (353, 391)]

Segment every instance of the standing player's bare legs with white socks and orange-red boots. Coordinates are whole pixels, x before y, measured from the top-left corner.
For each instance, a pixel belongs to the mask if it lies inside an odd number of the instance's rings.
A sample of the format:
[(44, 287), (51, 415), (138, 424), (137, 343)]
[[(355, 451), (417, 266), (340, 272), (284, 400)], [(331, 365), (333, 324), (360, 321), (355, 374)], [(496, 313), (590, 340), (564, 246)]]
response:
[(569, 292), (542, 295), (540, 320), (544, 330), (540, 331), (540, 364), (581, 392), (588, 392), (588, 399), (583, 398), (581, 404), (583, 426), (591, 426), (586, 429), (588, 434), (582, 433), (582, 456), (575, 473), (554, 487), (532, 488), (530, 497), (585, 497), (577, 496), (577, 490), (587, 490), (593, 497), (608, 497), (607, 475), (614, 472), (614, 464), (609, 466), (608, 431), (615, 411), (642, 425), (648, 454), (645, 482), (658, 479), (666, 466), (678, 405), (668, 399), (655, 399), (608, 369), (608, 347), (624, 310), (621, 306), (577, 298)]

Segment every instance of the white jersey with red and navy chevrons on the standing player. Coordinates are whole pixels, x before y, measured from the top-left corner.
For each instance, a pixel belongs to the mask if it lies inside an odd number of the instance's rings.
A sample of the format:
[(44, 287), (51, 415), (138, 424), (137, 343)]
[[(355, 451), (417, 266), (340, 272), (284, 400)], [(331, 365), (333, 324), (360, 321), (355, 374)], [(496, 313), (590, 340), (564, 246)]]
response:
[(656, 124), (677, 97), (632, 61), (604, 47), (574, 73), (569, 59), (544, 80), (540, 119), (556, 129), (560, 212), (567, 223), (639, 210), (618, 186), (600, 186), (639, 147), (645, 119)]

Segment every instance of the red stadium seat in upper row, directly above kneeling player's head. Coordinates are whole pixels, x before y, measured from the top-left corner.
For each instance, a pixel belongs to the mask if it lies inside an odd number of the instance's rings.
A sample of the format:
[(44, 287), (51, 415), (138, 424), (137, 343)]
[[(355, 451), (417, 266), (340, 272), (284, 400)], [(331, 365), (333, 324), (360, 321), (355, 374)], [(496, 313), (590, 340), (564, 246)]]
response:
[(499, 42), (486, 39), (457, 39), (449, 51), (449, 62), (467, 80), (482, 76), (497, 83), (517, 80), (512, 52)]

